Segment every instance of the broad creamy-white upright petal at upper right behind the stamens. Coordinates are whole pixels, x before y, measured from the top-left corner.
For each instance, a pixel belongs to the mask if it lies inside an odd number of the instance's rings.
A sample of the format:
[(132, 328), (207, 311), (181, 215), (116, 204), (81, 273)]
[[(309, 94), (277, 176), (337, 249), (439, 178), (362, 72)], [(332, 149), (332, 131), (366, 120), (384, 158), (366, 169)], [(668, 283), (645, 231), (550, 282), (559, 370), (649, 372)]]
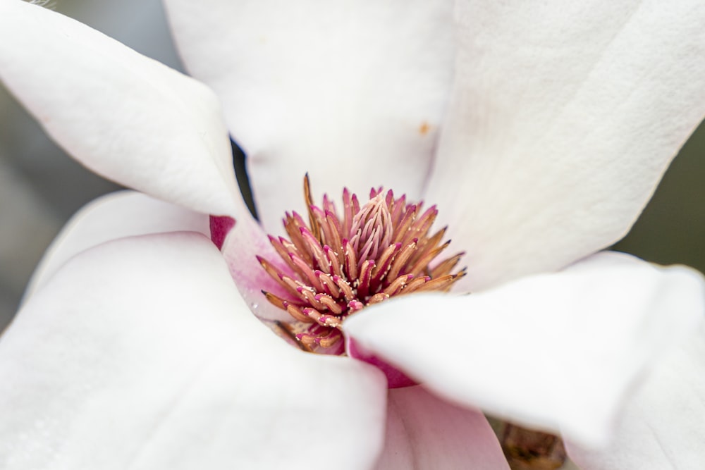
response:
[(461, 2), (429, 202), (470, 290), (623, 237), (705, 113), (701, 0)]

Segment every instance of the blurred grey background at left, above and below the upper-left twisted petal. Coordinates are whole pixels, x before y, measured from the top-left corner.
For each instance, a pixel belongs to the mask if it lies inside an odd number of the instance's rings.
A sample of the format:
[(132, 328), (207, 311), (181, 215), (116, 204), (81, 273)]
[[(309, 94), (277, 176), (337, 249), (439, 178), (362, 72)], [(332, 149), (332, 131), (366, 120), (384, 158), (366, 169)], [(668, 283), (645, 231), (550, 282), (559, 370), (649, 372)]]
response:
[[(56, 0), (49, 8), (182, 70), (160, 0)], [(56, 147), (0, 84), (0, 329), (63, 223), (116, 189)]]

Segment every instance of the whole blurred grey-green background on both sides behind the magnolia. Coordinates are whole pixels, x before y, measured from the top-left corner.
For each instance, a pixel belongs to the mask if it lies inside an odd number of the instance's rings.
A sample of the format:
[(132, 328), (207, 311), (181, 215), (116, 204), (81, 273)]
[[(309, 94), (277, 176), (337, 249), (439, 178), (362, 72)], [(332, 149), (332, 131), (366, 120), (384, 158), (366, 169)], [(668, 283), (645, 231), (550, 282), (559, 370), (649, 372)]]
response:
[[(183, 70), (159, 0), (57, 0), (65, 13)], [(615, 249), (705, 271), (705, 125), (685, 144), (632, 232)], [(91, 199), (116, 190), (52, 144), (0, 85), (0, 330), (44, 249)]]

